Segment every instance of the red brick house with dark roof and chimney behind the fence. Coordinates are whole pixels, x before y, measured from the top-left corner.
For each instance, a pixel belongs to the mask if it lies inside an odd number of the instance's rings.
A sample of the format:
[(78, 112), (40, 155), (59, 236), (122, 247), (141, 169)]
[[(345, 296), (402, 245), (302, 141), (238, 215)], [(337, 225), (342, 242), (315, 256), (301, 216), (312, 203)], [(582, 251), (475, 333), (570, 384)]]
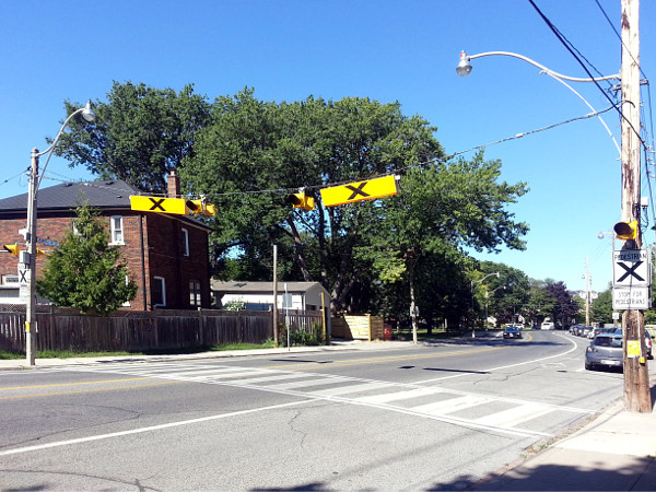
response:
[[(126, 309), (196, 309), (210, 307), (208, 238), (211, 231), (188, 215), (133, 211), (130, 195), (142, 194), (121, 180), (65, 183), (38, 190), (37, 247), (48, 251), (72, 227), (78, 203), (89, 203), (101, 212), (110, 233), (110, 244), (124, 250), (130, 278), (138, 292)], [(168, 176), (168, 198), (179, 197), (179, 178)], [(0, 245), (25, 239), (27, 194), (0, 199)], [(0, 255), (0, 302), (24, 303), (19, 297), (19, 258)], [(37, 276), (45, 258), (37, 258)]]

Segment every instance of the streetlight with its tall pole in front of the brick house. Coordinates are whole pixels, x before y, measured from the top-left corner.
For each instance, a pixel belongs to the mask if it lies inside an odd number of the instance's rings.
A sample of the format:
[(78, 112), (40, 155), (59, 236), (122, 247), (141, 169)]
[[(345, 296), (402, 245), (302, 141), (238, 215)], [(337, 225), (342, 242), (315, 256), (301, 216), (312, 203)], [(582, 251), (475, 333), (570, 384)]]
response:
[[(36, 363), (36, 347), (35, 347), (35, 337), (33, 333), (36, 332), (36, 215), (37, 215), (37, 191), (38, 186), (43, 179), (43, 173), (46, 172), (46, 167), (48, 166), (48, 162), (50, 162), (50, 157), (52, 156), (52, 151), (59, 142), (63, 130), (68, 126), (68, 124), (78, 115), (82, 115), (85, 121), (93, 122), (95, 121), (95, 113), (92, 109), (91, 101), (86, 102), (84, 107), (81, 107), (73, 113), (63, 121), (59, 133), (50, 144), (48, 149), (44, 152), (39, 152), (38, 149), (32, 149), (32, 163), (30, 167), (30, 189), (27, 194), (27, 227), (25, 229), (25, 246), (26, 246), (26, 255), (21, 258), (21, 262), (23, 263), (23, 269), (25, 271), (25, 277), (27, 281), (27, 304), (25, 311), (25, 352), (27, 364), (35, 365)], [(44, 165), (44, 169), (42, 175), (38, 174), (38, 157), (42, 155), (48, 154), (48, 159), (46, 160), (46, 164)], [(19, 267), (21, 268), (21, 267)], [(33, 331), (33, 328), (35, 331)]]

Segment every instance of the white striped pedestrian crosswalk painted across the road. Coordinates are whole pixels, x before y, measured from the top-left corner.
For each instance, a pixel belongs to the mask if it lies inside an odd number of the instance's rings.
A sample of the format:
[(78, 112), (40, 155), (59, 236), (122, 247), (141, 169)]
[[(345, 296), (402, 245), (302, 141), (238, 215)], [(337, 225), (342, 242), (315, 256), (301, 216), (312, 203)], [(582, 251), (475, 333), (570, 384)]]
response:
[[(200, 362), (187, 364), (116, 363), (68, 366), (58, 371), (125, 374), (259, 389), (308, 399), (326, 399), (341, 403), (367, 406), (520, 437), (550, 435), (548, 432), (522, 426), (522, 424), (530, 421), (534, 422), (532, 426), (535, 427), (535, 422), (539, 422), (539, 418), (552, 412), (564, 413), (564, 418), (570, 419), (594, 412), (574, 407), (471, 394), (442, 387), (273, 368), (212, 365)], [(508, 406), (511, 408), (507, 408)], [(501, 410), (500, 407), (502, 407)], [(488, 408), (490, 409), (489, 413), (481, 417), (480, 413), (485, 412)], [(477, 410), (477, 417), (462, 417), (471, 409)]]

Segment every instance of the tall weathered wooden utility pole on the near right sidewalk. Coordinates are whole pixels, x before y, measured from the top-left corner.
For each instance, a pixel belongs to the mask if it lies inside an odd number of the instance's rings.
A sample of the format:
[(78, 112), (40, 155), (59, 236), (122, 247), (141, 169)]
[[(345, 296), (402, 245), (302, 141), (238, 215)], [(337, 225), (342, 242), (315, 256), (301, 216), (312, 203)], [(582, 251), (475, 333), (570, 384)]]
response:
[[(622, 249), (640, 249), (640, 0), (622, 0), (622, 221), (637, 221), (635, 239), (624, 242)], [(649, 373), (646, 365), (645, 317), (642, 311), (622, 314), (624, 337), (624, 408), (651, 412)], [(640, 343), (640, 356), (628, 356), (631, 342)], [(633, 354), (631, 354), (633, 355)]]

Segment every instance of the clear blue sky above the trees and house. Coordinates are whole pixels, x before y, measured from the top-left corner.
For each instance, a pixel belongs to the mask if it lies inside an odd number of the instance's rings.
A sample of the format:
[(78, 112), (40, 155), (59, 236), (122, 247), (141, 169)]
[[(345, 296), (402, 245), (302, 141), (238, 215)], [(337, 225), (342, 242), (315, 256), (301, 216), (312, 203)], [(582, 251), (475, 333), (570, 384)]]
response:
[[(620, 0), (535, 1), (600, 73), (619, 72), (612, 27), (619, 32)], [(641, 65), (651, 78), (656, 2), (641, 3)], [(477, 59), (468, 78), (456, 74), (466, 49), (513, 51), (586, 77), (525, 0), (3, 0), (0, 36), (0, 198), (27, 191), (30, 151), (45, 149), (45, 138), (57, 133), (63, 101), (106, 101), (113, 81), (175, 90), (194, 83), (209, 101), (245, 86), (277, 102), (398, 101), (405, 114), (437, 127), (448, 154), (589, 113), (570, 90), (518, 59)], [(596, 109), (608, 107), (594, 84), (572, 85)], [(604, 119), (619, 141), (618, 115)], [(487, 147), (485, 157), (503, 162), (502, 179), (528, 183), (529, 194), (509, 210), (531, 230), (526, 251), (475, 256), (573, 290), (585, 289), (589, 259), (593, 288), (606, 289), (611, 239), (598, 234), (620, 220), (621, 168), (602, 125), (570, 122)], [(89, 178), (54, 157), (42, 187)], [(646, 184), (643, 177), (645, 196)], [(654, 243), (653, 232), (645, 243)]]

